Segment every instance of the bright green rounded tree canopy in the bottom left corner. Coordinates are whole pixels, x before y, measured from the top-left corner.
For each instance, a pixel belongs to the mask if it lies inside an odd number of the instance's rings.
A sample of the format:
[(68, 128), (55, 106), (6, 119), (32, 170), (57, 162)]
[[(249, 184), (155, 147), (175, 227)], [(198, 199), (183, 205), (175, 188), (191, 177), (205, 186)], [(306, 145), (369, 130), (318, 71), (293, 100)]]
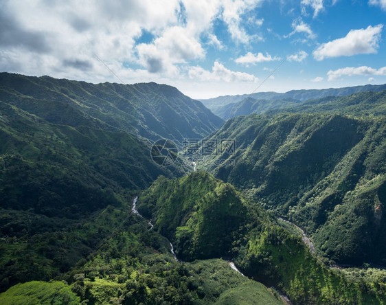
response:
[(8, 305), (80, 304), (80, 297), (63, 282), (27, 282), (17, 284), (0, 294), (0, 303)]

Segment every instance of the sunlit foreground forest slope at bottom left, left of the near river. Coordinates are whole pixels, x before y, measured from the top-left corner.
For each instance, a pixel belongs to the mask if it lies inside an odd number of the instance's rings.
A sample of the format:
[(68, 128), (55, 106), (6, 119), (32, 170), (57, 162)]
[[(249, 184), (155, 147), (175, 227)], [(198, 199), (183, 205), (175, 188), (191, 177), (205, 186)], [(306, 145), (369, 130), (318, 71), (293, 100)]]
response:
[[(20, 247), (16, 241), (12, 245)], [(69, 271), (52, 268), (60, 261), (73, 260), (76, 247), (93, 251)], [(31, 255), (35, 248), (39, 249), (40, 260)], [(24, 304), (25, 300), (35, 301), (32, 304), (67, 304), (78, 299), (75, 304), (204, 305), (229, 304), (228, 300), (240, 295), (245, 300), (261, 297), (266, 304), (283, 304), (273, 290), (240, 275), (224, 260), (177, 262), (168, 240), (149, 230), (144, 218), (131, 212), (130, 203), (110, 205), (58, 233), (34, 236), (30, 246), (21, 247), (19, 252), (21, 256), (12, 258), (14, 273), (33, 268), (35, 273), (30, 278), (51, 276), (65, 284), (16, 284), (0, 294), (4, 304)], [(43, 260), (44, 252), (55, 254), (54, 264)], [(21, 265), (23, 260), (29, 264)], [(47, 275), (49, 271), (52, 273)], [(7, 280), (17, 277), (14, 273), (8, 274)]]

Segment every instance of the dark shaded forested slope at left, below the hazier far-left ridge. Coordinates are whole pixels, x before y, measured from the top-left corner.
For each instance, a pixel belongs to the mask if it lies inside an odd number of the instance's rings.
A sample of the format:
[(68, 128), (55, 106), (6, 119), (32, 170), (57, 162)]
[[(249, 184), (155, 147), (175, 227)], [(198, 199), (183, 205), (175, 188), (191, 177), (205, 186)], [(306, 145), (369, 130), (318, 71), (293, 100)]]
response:
[(74, 228), (160, 174), (184, 173), (178, 162), (158, 166), (128, 133), (52, 124), (3, 102), (0, 143), (1, 290), (73, 268), (109, 232)]

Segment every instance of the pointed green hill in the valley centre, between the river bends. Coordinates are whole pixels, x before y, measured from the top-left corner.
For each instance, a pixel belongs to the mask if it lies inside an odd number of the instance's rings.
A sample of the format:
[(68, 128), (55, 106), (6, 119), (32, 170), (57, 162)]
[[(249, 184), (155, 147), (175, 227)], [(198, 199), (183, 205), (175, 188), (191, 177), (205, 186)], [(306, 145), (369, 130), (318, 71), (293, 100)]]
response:
[(230, 256), (247, 228), (258, 225), (249, 213), (266, 217), (232, 185), (206, 172), (157, 179), (139, 197), (138, 210), (173, 242), (183, 260)]

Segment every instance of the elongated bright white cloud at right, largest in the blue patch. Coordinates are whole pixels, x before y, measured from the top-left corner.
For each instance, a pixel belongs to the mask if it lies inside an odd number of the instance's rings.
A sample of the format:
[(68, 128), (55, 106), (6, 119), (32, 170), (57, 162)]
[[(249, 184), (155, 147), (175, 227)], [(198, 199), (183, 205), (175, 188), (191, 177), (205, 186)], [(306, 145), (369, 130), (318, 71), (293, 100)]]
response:
[(313, 52), (316, 60), (328, 57), (352, 56), (356, 54), (374, 54), (379, 47), (383, 25), (366, 29), (351, 30), (348, 34), (334, 41), (323, 43)]

